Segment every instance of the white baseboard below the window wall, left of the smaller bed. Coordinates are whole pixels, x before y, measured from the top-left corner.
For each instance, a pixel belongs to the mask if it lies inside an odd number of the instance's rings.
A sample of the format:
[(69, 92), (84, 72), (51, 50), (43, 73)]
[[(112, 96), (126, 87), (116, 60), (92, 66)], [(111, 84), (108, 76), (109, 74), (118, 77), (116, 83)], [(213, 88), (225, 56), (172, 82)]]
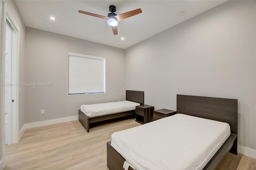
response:
[(76, 116), (70, 116), (70, 117), (62, 117), (59, 119), (51, 119), (51, 120), (46, 120), (46, 121), (37, 121), (33, 123), (26, 123), (25, 127), (26, 129), (33, 128), (33, 127), (41, 127), (41, 126), (46, 126), (46, 125), (52, 125), (56, 123), (62, 123), (62, 122), (67, 122), (67, 121), (74, 121), (78, 120), (78, 115)]

